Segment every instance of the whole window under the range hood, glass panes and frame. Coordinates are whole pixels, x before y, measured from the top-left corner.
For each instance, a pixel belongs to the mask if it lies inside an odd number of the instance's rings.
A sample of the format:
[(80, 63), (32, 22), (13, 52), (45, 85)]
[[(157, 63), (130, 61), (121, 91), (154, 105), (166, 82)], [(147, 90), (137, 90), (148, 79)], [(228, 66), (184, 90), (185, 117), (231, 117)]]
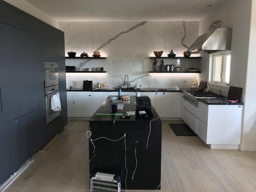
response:
[(231, 53), (210, 55), (209, 82), (212, 84), (229, 85)]

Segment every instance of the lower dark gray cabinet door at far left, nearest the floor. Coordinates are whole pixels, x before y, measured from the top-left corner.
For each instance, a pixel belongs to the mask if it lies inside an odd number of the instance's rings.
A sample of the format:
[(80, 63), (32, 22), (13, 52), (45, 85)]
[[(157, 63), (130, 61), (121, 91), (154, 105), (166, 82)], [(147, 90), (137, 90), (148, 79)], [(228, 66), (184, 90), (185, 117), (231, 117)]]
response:
[(12, 120), (0, 129), (0, 183), (6, 180), (31, 156), (28, 154), (29, 128), (36, 128), (35, 111)]

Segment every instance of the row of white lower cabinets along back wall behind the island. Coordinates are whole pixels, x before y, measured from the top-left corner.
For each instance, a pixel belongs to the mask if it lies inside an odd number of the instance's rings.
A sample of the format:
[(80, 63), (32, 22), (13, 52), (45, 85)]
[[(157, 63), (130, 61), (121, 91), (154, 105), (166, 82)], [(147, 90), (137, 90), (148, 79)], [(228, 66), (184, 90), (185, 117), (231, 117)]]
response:
[[(136, 92), (122, 92), (122, 94), (135, 96)], [(117, 96), (118, 92), (67, 91), (68, 117), (91, 117), (110, 95)], [(182, 92), (140, 92), (140, 95), (150, 98), (151, 105), (156, 109), (159, 117), (181, 117)]]

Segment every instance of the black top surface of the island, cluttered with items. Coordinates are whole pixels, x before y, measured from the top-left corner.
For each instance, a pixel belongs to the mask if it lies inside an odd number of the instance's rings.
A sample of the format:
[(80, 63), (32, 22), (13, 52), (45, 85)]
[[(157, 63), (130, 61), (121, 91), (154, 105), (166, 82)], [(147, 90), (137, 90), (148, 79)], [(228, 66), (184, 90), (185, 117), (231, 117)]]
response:
[[(123, 115), (126, 115), (125, 112), (127, 111), (135, 111), (136, 110), (136, 97), (130, 96), (129, 101), (123, 102), (123, 108), (117, 109), (117, 113), (122, 113)], [(89, 121), (150, 121), (156, 119), (156, 121), (160, 120), (158, 113), (156, 112), (155, 108), (152, 107), (152, 114), (153, 118), (151, 119), (144, 119), (144, 118), (137, 118), (135, 115), (131, 115), (130, 119), (121, 119), (120, 116), (115, 115), (96, 115), (96, 113), (104, 113), (104, 114), (111, 114), (110, 105), (112, 103), (112, 100), (109, 98), (106, 98), (105, 101), (101, 104), (101, 106), (98, 108), (98, 110), (95, 112), (95, 114), (90, 118)]]

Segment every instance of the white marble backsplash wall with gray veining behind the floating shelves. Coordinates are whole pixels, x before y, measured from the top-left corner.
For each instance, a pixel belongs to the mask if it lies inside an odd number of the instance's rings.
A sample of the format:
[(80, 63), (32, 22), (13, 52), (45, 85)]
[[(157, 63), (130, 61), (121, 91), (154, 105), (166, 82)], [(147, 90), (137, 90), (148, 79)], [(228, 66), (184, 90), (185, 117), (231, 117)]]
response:
[[(196, 73), (149, 73), (153, 68), (154, 50), (163, 50), (162, 56), (173, 49), (183, 56), (198, 36), (197, 21), (148, 21), (148, 22), (59, 22), (65, 33), (66, 52), (87, 52), (90, 56), (98, 50), (106, 60), (66, 60), (67, 66), (77, 69), (104, 67), (107, 73), (67, 73), (67, 87), (82, 87), (84, 80), (107, 82), (109, 87), (123, 84), (125, 74), (131, 85), (142, 87), (189, 87), (197, 79)], [(67, 54), (66, 54), (67, 56)], [(193, 55), (196, 56), (196, 55)], [(198, 60), (165, 60), (164, 64), (198, 68)], [(160, 60), (158, 61), (160, 64)]]

